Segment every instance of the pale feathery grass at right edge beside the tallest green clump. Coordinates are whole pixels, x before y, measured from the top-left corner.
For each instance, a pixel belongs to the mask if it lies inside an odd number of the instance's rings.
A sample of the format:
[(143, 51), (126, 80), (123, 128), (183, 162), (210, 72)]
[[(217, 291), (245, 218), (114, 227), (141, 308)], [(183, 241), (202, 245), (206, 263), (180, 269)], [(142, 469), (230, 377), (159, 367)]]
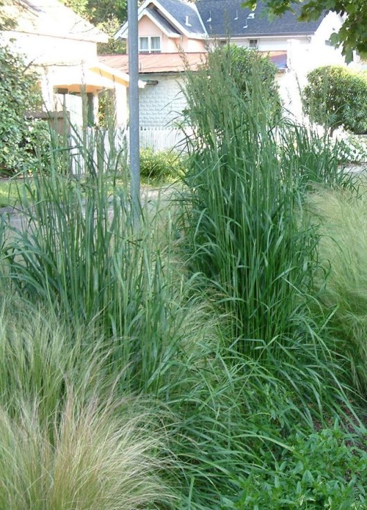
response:
[(328, 276), (315, 279), (328, 331), (337, 351), (348, 358), (357, 388), (367, 390), (367, 197), (363, 182), (357, 191), (322, 190), (308, 197), (319, 224), (319, 260)]

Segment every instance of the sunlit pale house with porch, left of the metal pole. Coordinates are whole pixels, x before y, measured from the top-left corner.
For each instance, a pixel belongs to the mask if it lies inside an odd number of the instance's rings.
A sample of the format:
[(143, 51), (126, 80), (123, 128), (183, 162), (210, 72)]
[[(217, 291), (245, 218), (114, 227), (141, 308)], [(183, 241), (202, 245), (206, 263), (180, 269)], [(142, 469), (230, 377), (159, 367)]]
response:
[(3, 12), (15, 26), (3, 31), (2, 44), (24, 55), (37, 71), (45, 111), (66, 107), (77, 126), (85, 125), (87, 111), (88, 122), (94, 123), (98, 96), (110, 91), (116, 123), (126, 125), (129, 76), (97, 57), (97, 43), (107, 42), (106, 34), (57, 0), (15, 0)]

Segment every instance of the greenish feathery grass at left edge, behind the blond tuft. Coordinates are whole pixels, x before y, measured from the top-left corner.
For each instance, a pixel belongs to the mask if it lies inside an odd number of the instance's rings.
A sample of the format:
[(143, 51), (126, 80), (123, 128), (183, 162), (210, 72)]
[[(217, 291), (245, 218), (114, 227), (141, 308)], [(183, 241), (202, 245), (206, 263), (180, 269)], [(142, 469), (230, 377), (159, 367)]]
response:
[(33, 306), (6, 291), (0, 303), (0, 405), (17, 416), (21, 403), (37, 400), (39, 423), (48, 422), (66, 398), (106, 398), (109, 346), (92, 328), (69, 326), (51, 307)]

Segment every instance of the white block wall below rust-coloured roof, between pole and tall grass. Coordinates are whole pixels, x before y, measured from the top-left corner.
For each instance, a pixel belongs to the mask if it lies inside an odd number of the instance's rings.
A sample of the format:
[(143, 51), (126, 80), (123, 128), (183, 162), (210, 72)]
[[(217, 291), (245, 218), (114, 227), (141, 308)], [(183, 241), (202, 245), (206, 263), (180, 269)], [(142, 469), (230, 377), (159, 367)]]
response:
[(186, 107), (186, 100), (181, 92), (181, 74), (147, 74), (139, 77), (143, 81), (158, 81), (156, 85), (145, 85), (139, 91), (141, 126), (163, 128), (174, 122)]

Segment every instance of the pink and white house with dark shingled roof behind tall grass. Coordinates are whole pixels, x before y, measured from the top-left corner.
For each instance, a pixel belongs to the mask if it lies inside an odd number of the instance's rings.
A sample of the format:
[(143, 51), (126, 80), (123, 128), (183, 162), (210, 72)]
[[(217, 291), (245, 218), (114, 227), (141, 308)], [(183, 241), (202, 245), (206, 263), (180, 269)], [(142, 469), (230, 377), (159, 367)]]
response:
[[(341, 17), (327, 12), (316, 21), (300, 22), (301, 6), (295, 4), (294, 12), (271, 21), (264, 9), (261, 1), (253, 11), (242, 8), (242, 0), (143, 1), (138, 9), (139, 67), (147, 86), (140, 91), (141, 125), (172, 123), (185, 107), (181, 53), (195, 69), (207, 51), (228, 39), (269, 55), (279, 71), (286, 109), (301, 116), (298, 90), (307, 73), (323, 64), (344, 63), (341, 51), (329, 42)], [(127, 39), (127, 34), (125, 23), (115, 37)], [(101, 62), (128, 72), (127, 55), (107, 55)]]

